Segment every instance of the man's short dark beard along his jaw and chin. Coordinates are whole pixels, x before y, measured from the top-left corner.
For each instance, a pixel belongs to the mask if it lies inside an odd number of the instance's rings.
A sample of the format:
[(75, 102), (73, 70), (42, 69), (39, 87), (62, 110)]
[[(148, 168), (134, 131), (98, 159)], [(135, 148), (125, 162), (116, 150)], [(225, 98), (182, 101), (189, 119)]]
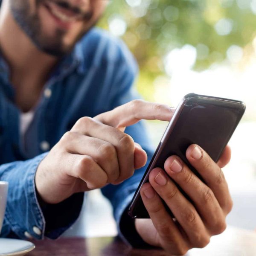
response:
[[(13, 18), (16, 23), (23, 32), (30, 38), (32, 43), (42, 52), (45, 52), (49, 55), (53, 55), (55, 57), (62, 57), (63, 55), (70, 52), (77, 41), (79, 41), (83, 35), (86, 34), (90, 30), (91, 27), (94, 26), (93, 23), (90, 28), (86, 30), (82, 30), (75, 38), (72, 44), (65, 45), (63, 43), (63, 38), (66, 35), (66, 31), (64, 29), (57, 28), (55, 29), (54, 37), (49, 37), (44, 34), (42, 31), (41, 20), (38, 14), (39, 6), (44, 3), (45, 0), (35, 0), (35, 13), (31, 14), (30, 9), (31, 6), (29, 4), (29, 0), (10, 0), (11, 4), (11, 12)], [(66, 6), (69, 7), (68, 3), (62, 2)], [(76, 8), (77, 9), (77, 8)], [(83, 20), (90, 21), (93, 16), (93, 12), (87, 12), (84, 14)]]

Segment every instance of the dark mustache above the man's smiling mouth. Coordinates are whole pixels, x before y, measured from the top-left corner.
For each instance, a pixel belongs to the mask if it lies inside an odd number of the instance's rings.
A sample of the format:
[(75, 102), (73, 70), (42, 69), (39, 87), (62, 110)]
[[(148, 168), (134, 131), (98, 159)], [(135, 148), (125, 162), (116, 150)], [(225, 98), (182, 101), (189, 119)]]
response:
[(49, 2), (55, 3), (56, 5), (60, 6), (61, 8), (67, 9), (76, 15), (80, 15), (81, 18), (90, 20), (93, 17), (93, 11), (90, 9), (89, 11), (84, 11), (80, 6), (73, 6), (67, 0), (37, 0), (39, 2)]

